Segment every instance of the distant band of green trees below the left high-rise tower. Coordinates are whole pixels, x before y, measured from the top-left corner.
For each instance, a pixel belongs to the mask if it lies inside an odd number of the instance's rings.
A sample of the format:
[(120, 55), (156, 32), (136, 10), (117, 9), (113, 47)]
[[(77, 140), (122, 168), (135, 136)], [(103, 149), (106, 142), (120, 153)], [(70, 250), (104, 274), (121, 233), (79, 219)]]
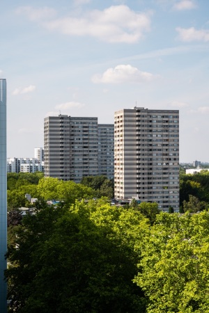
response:
[(8, 209), (29, 207), (26, 193), (32, 198), (65, 200), (69, 203), (82, 198), (114, 197), (114, 182), (104, 175), (83, 177), (82, 182), (76, 184), (52, 177), (44, 178), (42, 172), (8, 173), (7, 186)]

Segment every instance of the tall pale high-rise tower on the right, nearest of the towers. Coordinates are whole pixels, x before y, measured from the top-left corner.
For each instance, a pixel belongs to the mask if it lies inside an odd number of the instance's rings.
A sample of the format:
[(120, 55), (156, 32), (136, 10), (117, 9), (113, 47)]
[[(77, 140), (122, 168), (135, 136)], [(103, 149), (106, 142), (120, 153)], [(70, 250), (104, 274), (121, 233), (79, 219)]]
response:
[(179, 209), (179, 112), (123, 109), (114, 115), (115, 197)]

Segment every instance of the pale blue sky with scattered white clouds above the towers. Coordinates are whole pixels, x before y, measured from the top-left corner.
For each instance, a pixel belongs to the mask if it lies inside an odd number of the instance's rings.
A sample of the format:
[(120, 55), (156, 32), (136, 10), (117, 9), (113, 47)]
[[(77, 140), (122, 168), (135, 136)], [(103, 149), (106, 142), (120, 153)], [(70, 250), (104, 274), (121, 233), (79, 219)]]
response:
[(209, 161), (208, 0), (12, 0), (0, 10), (7, 156), (34, 157), (49, 115), (180, 113), (180, 162)]

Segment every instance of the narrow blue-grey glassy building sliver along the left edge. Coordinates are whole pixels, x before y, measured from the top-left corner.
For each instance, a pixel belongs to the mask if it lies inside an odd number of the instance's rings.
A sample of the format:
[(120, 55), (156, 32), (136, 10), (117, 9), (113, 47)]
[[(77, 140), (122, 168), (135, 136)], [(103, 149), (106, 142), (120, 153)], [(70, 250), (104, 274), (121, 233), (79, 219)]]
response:
[(7, 287), (4, 281), (7, 250), (6, 200), (6, 79), (0, 79), (0, 312), (7, 312)]

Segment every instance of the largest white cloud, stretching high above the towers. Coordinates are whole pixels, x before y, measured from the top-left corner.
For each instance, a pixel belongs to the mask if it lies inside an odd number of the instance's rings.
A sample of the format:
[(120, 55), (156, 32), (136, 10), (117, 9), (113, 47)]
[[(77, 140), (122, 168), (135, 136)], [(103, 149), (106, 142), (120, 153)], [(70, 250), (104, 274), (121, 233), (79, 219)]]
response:
[(59, 31), (66, 35), (89, 35), (105, 42), (134, 43), (143, 38), (150, 30), (150, 13), (135, 13), (128, 6), (110, 6), (104, 10), (92, 10), (80, 17), (63, 17), (48, 20), (52, 13), (45, 10), (35, 10), (31, 7), (22, 8), (21, 12), (30, 19), (42, 19), (42, 25), (50, 31)]

